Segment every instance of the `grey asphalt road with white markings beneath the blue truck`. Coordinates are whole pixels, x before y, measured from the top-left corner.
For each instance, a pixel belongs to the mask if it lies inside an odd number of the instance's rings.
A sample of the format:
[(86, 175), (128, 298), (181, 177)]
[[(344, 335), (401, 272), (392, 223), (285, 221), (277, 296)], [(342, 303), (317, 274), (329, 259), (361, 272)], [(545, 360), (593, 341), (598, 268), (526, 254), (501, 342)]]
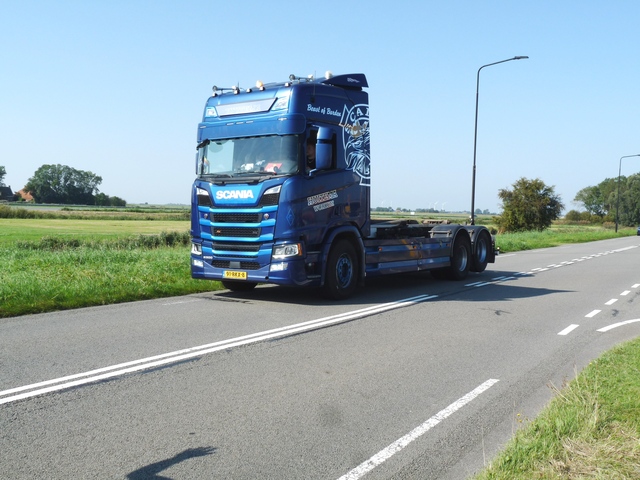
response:
[(640, 334), (638, 247), (0, 319), (0, 478), (464, 479)]

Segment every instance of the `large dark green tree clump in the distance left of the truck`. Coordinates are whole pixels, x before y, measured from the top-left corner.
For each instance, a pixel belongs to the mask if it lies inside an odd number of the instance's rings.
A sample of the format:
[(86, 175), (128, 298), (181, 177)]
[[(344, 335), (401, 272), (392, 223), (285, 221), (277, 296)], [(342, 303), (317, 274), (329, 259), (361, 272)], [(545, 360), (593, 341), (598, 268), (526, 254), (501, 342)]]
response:
[(25, 185), (38, 203), (93, 205), (102, 177), (66, 165), (43, 165)]

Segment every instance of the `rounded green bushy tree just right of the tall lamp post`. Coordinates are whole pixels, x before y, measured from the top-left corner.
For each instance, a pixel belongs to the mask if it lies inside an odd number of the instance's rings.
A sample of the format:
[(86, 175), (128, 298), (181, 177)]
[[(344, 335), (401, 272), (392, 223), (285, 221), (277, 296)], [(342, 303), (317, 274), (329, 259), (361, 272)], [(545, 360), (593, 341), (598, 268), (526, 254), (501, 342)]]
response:
[(498, 192), (502, 200), (502, 214), (495, 217), (501, 232), (542, 231), (560, 217), (564, 208), (554, 188), (536, 178), (520, 178), (513, 184), (513, 190)]

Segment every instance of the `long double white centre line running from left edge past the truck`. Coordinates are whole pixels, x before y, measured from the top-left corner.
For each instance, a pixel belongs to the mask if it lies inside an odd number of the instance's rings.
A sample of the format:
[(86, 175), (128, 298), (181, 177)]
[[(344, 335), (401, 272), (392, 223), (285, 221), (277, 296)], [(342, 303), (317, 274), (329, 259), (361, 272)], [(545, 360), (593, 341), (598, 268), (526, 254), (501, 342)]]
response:
[[(354, 320), (357, 318), (366, 317), (369, 315), (385, 312), (388, 310), (407, 307), (417, 303), (425, 302), (427, 300), (431, 300), (433, 298), (437, 298), (437, 295), (418, 295), (416, 297), (409, 297), (396, 302), (374, 305), (372, 307), (367, 307), (360, 310), (354, 310), (352, 312), (332, 315), (330, 317), (310, 320), (310, 321), (298, 323), (295, 325), (275, 328), (273, 330), (266, 330), (263, 332), (244, 335), (242, 337), (231, 338), (228, 340), (222, 340), (219, 342), (209, 343), (209, 344), (201, 345), (198, 347), (177, 350), (175, 352), (163, 353), (161, 355), (156, 355), (153, 357), (147, 357), (139, 360), (120, 363), (118, 365), (98, 368), (96, 370), (91, 370), (84, 373), (78, 373), (75, 375), (68, 375), (66, 377), (34, 383), (32, 385), (25, 385), (22, 387), (11, 388), (9, 390), (0, 391), (0, 397), (4, 397), (4, 398), (0, 398), (0, 405), (4, 403), (14, 402), (17, 400), (22, 400), (24, 398), (34, 397), (36, 395), (42, 395), (49, 392), (64, 390), (64, 389), (75, 387), (78, 385), (84, 385), (87, 383), (93, 383), (93, 382), (97, 382), (107, 378), (113, 378), (113, 377), (125, 375), (128, 373), (132, 373), (132, 372), (137, 372), (140, 370), (146, 370), (146, 369), (154, 368), (160, 365), (166, 365), (169, 363), (175, 363), (175, 362), (187, 360), (190, 358), (200, 357), (202, 355), (206, 355), (208, 353), (214, 353), (220, 350), (226, 350), (233, 347), (248, 345), (250, 343), (256, 343), (256, 342), (261, 342), (261, 341), (269, 340), (273, 338), (284, 337), (294, 333), (314, 330), (316, 328), (324, 327), (327, 325), (346, 322), (348, 320)], [(19, 392), (23, 392), (23, 393), (19, 393)], [(7, 395), (11, 395), (11, 396), (7, 397)]]

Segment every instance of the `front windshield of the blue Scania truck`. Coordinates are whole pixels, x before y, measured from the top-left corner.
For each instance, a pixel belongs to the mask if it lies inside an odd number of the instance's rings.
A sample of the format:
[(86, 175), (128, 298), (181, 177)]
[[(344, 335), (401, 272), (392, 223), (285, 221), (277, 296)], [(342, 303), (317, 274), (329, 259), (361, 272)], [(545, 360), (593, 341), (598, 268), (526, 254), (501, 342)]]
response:
[(233, 178), (298, 172), (298, 136), (206, 140), (198, 146), (198, 175)]

